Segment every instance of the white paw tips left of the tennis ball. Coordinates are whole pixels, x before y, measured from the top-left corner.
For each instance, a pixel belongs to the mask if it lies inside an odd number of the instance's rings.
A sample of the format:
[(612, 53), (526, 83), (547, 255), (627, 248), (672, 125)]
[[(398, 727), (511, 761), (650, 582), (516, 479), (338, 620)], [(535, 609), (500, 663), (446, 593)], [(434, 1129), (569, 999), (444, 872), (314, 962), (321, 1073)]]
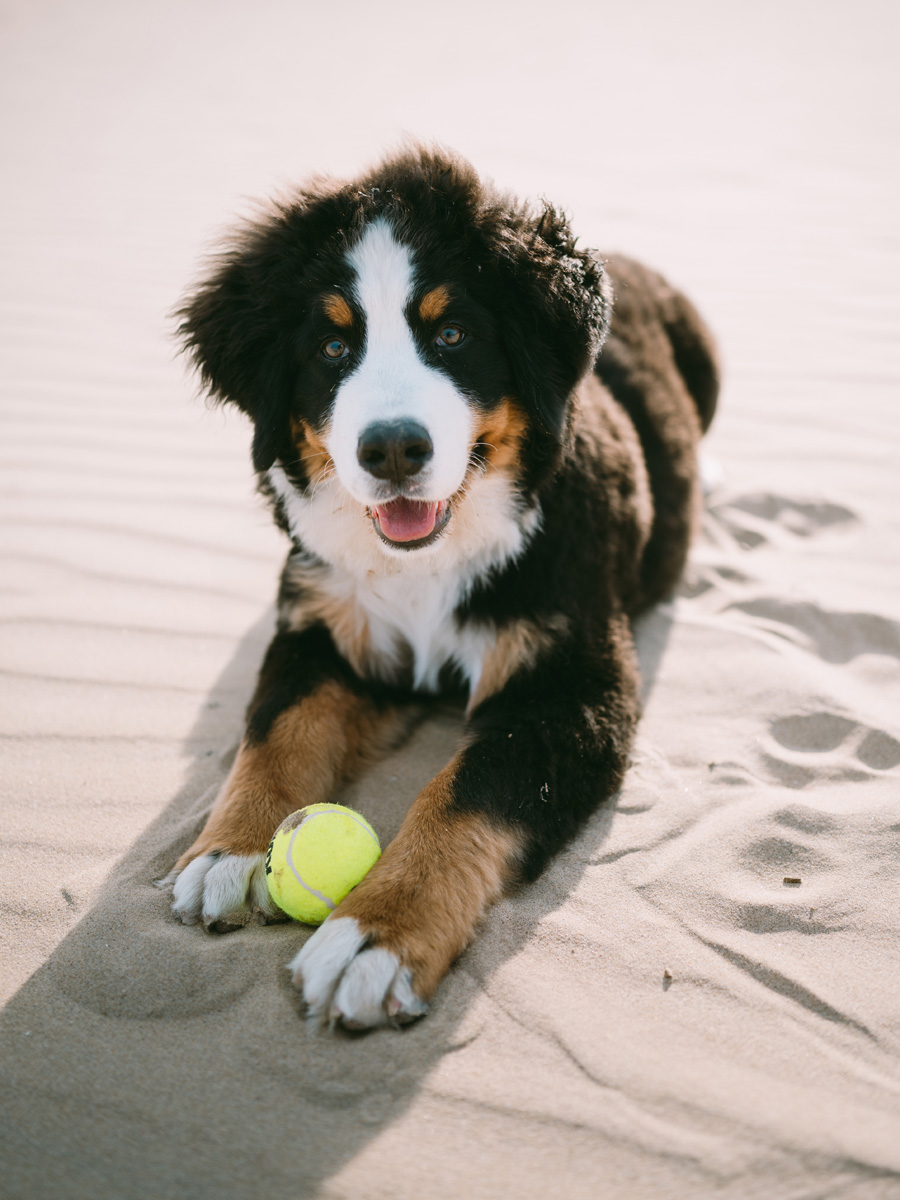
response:
[(172, 908), (186, 925), (202, 920), (209, 928), (228, 917), (244, 924), (254, 912), (263, 920), (278, 913), (265, 883), (265, 854), (200, 854), (162, 882), (173, 883)]

